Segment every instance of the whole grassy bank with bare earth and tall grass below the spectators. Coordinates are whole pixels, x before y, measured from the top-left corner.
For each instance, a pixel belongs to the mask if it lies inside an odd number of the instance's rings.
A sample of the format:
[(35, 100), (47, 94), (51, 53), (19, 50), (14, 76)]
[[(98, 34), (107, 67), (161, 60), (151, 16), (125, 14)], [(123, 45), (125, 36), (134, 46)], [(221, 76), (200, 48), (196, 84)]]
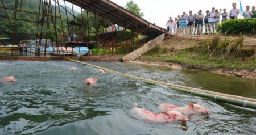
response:
[[(241, 40), (241, 39), (240, 39)], [(209, 43), (210, 42), (210, 43)], [(215, 44), (214, 44), (215, 43)], [(243, 47), (241, 41), (195, 41), (169, 39), (138, 59), (177, 63), (188, 69), (256, 69), (255, 49)], [(183, 46), (183, 48), (180, 48)]]

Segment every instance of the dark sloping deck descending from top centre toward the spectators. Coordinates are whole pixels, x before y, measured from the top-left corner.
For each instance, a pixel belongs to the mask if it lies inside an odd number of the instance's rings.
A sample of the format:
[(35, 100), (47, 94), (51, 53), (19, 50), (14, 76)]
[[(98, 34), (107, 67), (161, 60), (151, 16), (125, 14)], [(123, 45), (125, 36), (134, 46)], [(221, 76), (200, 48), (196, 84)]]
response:
[(109, 0), (66, 0), (81, 7), (82, 9), (93, 12), (102, 18), (110, 20), (114, 24), (118, 24), (126, 29), (134, 32), (142, 33), (149, 37), (157, 37), (162, 33), (167, 32), (155, 24), (142, 19), (141, 17), (133, 14), (132, 12), (118, 6)]

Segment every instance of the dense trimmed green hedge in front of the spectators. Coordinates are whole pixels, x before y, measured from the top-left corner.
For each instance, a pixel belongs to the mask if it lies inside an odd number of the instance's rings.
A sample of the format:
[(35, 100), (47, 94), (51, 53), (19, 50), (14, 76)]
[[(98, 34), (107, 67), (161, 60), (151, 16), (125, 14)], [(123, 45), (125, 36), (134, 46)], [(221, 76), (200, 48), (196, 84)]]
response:
[(256, 33), (256, 19), (226, 20), (218, 24), (218, 31), (228, 35), (253, 34)]

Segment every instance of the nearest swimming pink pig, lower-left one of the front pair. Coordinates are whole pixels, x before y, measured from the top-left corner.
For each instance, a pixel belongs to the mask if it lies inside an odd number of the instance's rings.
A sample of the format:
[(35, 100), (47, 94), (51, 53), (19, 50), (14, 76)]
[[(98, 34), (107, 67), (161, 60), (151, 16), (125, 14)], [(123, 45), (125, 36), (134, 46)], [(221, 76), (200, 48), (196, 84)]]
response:
[(181, 115), (180, 112), (177, 111), (168, 111), (161, 112), (160, 114), (152, 113), (147, 111), (146, 109), (141, 109), (138, 107), (134, 107), (131, 112), (135, 117), (142, 119), (148, 123), (169, 123), (172, 121), (188, 121), (187, 116)]

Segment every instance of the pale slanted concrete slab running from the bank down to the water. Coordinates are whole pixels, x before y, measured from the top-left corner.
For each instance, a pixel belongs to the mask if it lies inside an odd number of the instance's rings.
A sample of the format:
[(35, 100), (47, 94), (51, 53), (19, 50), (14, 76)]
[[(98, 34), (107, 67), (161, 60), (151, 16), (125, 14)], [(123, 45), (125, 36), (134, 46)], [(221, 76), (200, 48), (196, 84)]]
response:
[(163, 33), (162, 35), (160, 35), (160, 36), (156, 37), (155, 39), (149, 41), (148, 43), (144, 44), (141, 48), (134, 50), (133, 52), (127, 54), (126, 56), (123, 56), (122, 60), (123, 61), (132, 61), (135, 58), (138, 58), (142, 54), (146, 53), (148, 50), (154, 48), (155, 45), (157, 45), (158, 43), (163, 41), (165, 38), (166, 38), (165, 33)]

